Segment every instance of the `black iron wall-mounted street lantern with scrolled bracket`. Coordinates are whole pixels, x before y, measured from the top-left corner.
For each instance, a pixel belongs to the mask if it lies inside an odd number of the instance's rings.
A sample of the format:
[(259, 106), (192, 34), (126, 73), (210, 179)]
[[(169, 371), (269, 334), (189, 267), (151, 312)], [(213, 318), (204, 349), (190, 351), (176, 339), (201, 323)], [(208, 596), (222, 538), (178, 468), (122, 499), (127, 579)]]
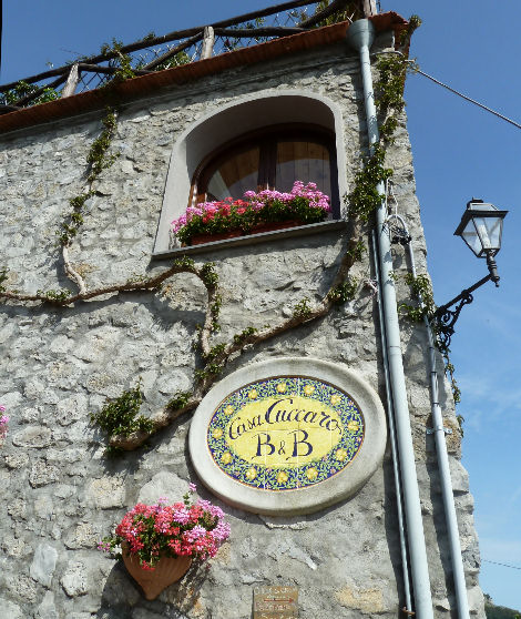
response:
[[(503, 220), (508, 211), (500, 211), (493, 204), (482, 200), (472, 199), (467, 203), (467, 210), (461, 222), (456, 229), (454, 235), (461, 236), (466, 244), (472, 250), (477, 257), (486, 257), (489, 274), (476, 282), (470, 288), (463, 290), (458, 296), (438, 307), (432, 319), (438, 326), (438, 334), (445, 347), (450, 346), (450, 338), (454, 333), (454, 324), (463, 305), (472, 303), (472, 293), (491, 280), (499, 286), (498, 265), (494, 256), (501, 248), (501, 234)], [(449, 310), (458, 303), (456, 310)]]

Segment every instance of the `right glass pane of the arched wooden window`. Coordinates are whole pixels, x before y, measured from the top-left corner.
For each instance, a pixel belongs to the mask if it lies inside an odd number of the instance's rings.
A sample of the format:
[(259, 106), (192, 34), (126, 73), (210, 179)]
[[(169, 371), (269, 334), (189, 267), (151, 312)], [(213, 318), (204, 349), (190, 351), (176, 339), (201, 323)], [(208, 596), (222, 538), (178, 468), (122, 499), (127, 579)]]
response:
[(323, 144), (307, 141), (279, 141), (275, 168), (275, 189), (292, 191), (295, 181), (316, 183), (326, 195), (331, 195), (329, 152)]

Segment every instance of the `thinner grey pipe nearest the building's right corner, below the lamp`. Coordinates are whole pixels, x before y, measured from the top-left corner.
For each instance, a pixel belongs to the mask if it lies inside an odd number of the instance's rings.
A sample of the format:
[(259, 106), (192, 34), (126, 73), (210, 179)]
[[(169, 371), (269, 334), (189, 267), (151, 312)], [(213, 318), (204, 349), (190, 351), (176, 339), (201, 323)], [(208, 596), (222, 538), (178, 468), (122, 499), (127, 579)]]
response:
[[(405, 230), (406, 236), (409, 236), (406, 222), (400, 215), (392, 215), (396, 217)], [(412, 252), (412, 244), (407, 243), (409, 250), (410, 270), (416, 277), (416, 261)], [(423, 307), (423, 302), (421, 301)], [(467, 598), (467, 584), (464, 580), (463, 559), (461, 558), (461, 545), (458, 529), (458, 519), (456, 517), (454, 495), (452, 491), (452, 480), (450, 477), (449, 456), (447, 453), (447, 443), (445, 439), (443, 417), (441, 415), (441, 407), (439, 403), (439, 388), (438, 388), (438, 373), (436, 371), (436, 346), (432, 336), (432, 329), (429, 318), (423, 316), (423, 323), (427, 329), (429, 342), (429, 375), (430, 375), (430, 397), (431, 397), (431, 414), (432, 414), (432, 433), (436, 442), (436, 453), (438, 456), (438, 468), (440, 474), (441, 496), (443, 499), (445, 517), (447, 522), (447, 534), (449, 537), (450, 558), (452, 562), (452, 576), (454, 579), (456, 605), (458, 607), (458, 618), (469, 619), (469, 602)]]

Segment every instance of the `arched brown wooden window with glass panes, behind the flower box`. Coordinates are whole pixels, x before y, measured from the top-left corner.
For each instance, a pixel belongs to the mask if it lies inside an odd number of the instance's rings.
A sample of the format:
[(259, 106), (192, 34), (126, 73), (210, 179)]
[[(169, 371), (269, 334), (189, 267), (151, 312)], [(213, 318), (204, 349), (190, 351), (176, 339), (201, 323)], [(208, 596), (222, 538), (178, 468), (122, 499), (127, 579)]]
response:
[(295, 181), (316, 183), (338, 216), (335, 135), (313, 124), (289, 123), (227, 142), (198, 165), (190, 203), (243, 197), (246, 191), (289, 192)]

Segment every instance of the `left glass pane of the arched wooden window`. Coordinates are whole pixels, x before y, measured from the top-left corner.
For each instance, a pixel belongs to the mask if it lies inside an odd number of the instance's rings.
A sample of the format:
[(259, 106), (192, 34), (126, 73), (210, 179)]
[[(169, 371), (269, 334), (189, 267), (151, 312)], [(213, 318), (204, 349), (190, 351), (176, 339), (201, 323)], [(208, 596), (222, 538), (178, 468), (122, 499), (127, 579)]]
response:
[(244, 192), (257, 189), (259, 149), (234, 153), (222, 162), (210, 176), (206, 200), (243, 197)]

